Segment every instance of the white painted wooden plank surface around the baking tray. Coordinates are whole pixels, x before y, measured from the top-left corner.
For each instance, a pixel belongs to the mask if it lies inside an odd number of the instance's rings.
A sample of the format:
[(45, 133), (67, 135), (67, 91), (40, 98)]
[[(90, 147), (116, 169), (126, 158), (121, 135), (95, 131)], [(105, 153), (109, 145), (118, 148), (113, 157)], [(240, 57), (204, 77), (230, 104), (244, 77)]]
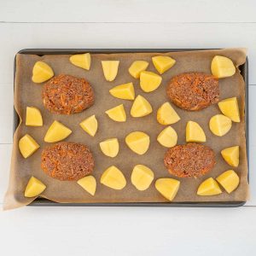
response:
[(255, 1), (0, 0), (0, 203), (24, 48), (247, 47), (251, 199), (240, 208), (24, 207), (0, 212), (1, 255), (256, 254)]

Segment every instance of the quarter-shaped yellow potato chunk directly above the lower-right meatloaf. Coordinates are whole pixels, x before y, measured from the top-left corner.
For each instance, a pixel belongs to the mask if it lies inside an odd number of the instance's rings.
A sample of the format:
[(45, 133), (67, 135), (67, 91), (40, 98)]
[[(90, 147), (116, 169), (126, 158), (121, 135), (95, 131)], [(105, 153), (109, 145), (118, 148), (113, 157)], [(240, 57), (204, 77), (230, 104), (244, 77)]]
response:
[(196, 122), (189, 121), (186, 126), (187, 143), (205, 143), (207, 137), (201, 126)]

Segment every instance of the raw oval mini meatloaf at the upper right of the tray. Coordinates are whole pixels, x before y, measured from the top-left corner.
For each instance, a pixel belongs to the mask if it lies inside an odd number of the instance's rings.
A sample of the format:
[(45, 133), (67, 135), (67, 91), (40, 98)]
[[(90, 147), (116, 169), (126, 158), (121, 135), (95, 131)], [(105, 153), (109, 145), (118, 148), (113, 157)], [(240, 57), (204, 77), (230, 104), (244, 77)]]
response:
[(166, 93), (179, 108), (201, 110), (218, 102), (218, 79), (206, 73), (182, 73), (170, 80)]

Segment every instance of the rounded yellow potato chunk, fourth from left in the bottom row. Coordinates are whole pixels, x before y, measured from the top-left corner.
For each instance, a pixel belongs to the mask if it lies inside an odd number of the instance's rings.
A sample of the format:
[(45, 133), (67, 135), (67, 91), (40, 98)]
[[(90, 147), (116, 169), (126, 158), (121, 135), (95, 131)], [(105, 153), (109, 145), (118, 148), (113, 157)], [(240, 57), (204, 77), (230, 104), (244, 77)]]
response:
[(154, 180), (154, 172), (147, 166), (134, 166), (131, 172), (131, 183), (140, 191), (148, 189)]

